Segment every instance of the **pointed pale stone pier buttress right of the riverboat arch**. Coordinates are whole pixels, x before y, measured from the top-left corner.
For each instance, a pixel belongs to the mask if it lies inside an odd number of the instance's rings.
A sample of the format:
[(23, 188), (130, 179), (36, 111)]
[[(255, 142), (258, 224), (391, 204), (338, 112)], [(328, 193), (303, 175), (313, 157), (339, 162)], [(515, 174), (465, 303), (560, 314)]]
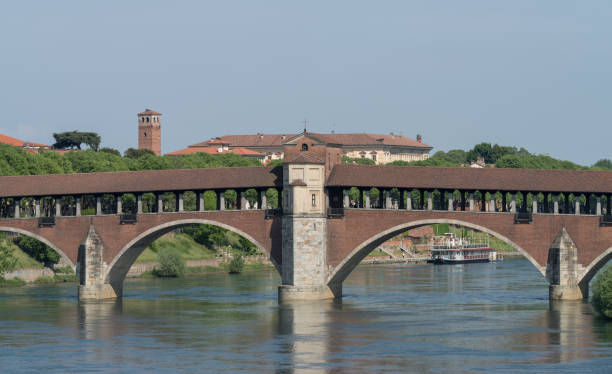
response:
[(588, 297), (588, 283), (578, 283), (581, 268), (578, 248), (563, 227), (548, 250), (546, 279), (550, 283), (549, 299), (578, 300)]

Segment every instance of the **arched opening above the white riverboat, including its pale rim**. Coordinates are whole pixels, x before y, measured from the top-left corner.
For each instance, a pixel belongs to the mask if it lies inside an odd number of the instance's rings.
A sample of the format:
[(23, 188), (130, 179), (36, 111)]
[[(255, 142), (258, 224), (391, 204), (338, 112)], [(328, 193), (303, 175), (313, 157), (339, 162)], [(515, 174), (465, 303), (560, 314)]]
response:
[[(415, 234), (416, 231), (418, 233)], [(328, 285), (342, 284), (358, 264), (364, 259), (367, 260), (368, 256), (371, 258), (397, 257), (398, 259), (401, 259), (402, 256), (404, 258), (420, 256), (422, 260), (425, 260), (431, 256), (428, 248), (431, 248), (432, 238), (447, 232), (475, 241), (486, 240), (491, 248), (499, 250), (502, 255), (504, 251), (509, 250), (518, 252), (531, 262), (542, 276), (545, 275), (545, 266), (540, 266), (525, 249), (497, 232), (459, 220), (429, 219), (392, 227), (362, 242), (335, 267), (328, 278)], [(408, 233), (408, 236), (405, 233)], [(409, 237), (411, 233), (415, 237)]]

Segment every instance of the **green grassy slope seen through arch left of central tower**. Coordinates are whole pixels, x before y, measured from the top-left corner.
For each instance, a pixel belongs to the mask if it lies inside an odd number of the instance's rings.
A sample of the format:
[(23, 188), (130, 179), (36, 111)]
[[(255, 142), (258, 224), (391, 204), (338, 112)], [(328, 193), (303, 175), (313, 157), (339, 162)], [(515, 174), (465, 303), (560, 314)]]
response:
[(189, 235), (176, 234), (157, 239), (140, 254), (136, 262), (156, 262), (157, 253), (163, 248), (176, 249), (185, 260), (201, 260), (217, 256), (217, 252), (196, 243)]

